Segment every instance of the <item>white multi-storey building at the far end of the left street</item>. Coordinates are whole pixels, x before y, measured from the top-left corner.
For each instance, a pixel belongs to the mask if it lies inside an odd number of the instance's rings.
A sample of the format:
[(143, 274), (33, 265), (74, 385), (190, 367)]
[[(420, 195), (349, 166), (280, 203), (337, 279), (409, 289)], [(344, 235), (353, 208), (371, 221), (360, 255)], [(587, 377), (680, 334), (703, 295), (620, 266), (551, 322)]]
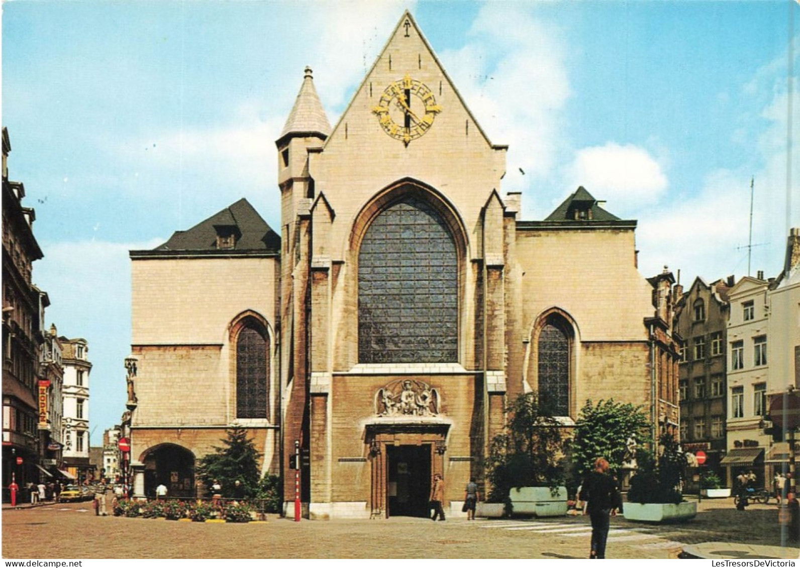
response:
[(94, 467), (89, 460), (89, 346), (86, 339), (60, 338), (64, 366), (62, 456), (68, 474), (83, 482)]

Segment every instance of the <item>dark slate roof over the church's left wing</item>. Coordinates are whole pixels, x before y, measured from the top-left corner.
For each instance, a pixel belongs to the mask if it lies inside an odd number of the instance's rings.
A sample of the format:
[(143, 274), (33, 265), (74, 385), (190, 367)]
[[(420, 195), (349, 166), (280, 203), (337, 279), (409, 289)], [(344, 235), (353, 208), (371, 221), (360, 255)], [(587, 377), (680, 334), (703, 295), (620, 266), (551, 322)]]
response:
[[(222, 250), (217, 248), (217, 233), (220, 228), (237, 235), (234, 248)], [(175, 231), (169, 241), (154, 250), (214, 250), (221, 253), (235, 253), (279, 252), (280, 249), (281, 238), (270, 229), (250, 202), (242, 198), (189, 230)]]

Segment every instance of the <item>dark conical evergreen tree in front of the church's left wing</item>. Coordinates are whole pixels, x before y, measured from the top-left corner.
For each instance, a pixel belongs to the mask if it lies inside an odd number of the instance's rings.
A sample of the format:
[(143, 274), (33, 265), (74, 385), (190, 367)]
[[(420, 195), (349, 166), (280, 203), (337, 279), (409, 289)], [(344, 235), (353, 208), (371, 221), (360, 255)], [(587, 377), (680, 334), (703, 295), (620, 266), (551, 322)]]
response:
[(246, 496), (254, 495), (258, 489), (261, 454), (255, 449), (253, 440), (247, 438), (247, 430), (242, 426), (234, 424), (225, 430), (225, 434), (226, 438), (220, 440), (222, 446), (214, 446), (214, 453), (206, 454), (200, 460), (200, 478), (206, 487), (217, 479), (225, 497), (233, 494), (237, 479), (245, 487)]

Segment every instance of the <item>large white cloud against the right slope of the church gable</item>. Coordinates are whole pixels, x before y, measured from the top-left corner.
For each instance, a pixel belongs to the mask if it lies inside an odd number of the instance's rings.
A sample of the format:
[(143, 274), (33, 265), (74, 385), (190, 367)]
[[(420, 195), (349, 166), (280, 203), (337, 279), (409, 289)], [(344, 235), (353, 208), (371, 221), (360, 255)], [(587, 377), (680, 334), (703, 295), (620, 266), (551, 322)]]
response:
[(531, 6), (482, 6), (460, 50), (441, 58), (491, 142), (508, 144), (504, 190), (522, 190), (530, 177), (553, 173), (565, 145), (562, 110), (570, 97), (563, 38)]

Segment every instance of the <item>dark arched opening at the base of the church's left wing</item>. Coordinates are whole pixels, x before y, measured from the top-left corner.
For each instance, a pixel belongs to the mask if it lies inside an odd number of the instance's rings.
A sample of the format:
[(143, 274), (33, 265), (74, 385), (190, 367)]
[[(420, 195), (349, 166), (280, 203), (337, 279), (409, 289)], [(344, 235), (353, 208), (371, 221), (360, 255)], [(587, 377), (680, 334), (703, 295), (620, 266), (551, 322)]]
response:
[(155, 488), (163, 483), (170, 497), (195, 497), (194, 454), (177, 444), (161, 444), (146, 451), (144, 492), (154, 497)]

